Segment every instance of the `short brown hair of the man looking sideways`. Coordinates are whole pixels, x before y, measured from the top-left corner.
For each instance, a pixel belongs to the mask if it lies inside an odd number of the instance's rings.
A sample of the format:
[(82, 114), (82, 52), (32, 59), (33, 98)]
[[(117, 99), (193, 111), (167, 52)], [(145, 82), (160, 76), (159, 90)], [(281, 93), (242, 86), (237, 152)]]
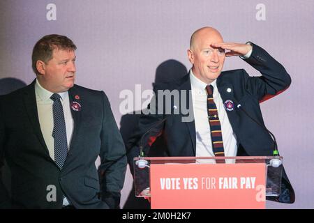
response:
[(33, 53), (31, 54), (31, 67), (36, 75), (39, 74), (36, 68), (37, 61), (43, 61), (45, 63), (50, 61), (54, 49), (68, 49), (74, 51), (76, 46), (68, 37), (57, 34), (47, 35), (38, 40), (33, 47)]

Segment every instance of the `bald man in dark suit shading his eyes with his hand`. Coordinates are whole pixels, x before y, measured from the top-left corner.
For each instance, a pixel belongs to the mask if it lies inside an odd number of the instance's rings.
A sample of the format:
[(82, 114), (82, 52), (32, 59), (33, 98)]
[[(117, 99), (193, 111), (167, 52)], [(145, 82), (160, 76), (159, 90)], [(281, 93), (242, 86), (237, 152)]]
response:
[[(226, 56), (241, 56), (262, 76), (249, 77), (243, 69), (221, 72)], [(134, 147), (152, 127), (165, 134), (165, 156), (273, 155), (274, 141), (264, 127), (259, 104), (290, 86), (285, 68), (253, 43), (223, 43), (211, 27), (193, 33), (188, 59), (193, 64), (188, 75), (155, 86), (150, 112), (141, 116), (138, 130), (128, 141), (133, 157), (139, 155)], [(171, 100), (170, 93), (174, 95)], [(163, 125), (156, 125), (163, 120)], [(154, 135), (146, 133), (146, 137)], [(294, 190), (285, 171), (281, 189), (273, 200), (293, 203)]]

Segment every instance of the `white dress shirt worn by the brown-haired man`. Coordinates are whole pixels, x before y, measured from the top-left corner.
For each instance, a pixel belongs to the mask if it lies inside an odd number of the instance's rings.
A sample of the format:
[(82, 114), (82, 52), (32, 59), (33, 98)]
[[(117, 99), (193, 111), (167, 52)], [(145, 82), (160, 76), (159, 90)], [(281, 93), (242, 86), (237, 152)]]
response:
[[(40, 86), (38, 79), (36, 79), (35, 83), (35, 93), (40, 130), (43, 134), (45, 144), (47, 145), (49, 155), (52, 160), (54, 160), (54, 138), (52, 137), (52, 130), (54, 129), (54, 118), (52, 114), (53, 101), (50, 99), (53, 93), (44, 89), (43, 86)], [(68, 142), (68, 148), (70, 148), (74, 122), (70, 111), (68, 91), (59, 93), (59, 95), (61, 96), (61, 105), (63, 107), (64, 119), (66, 121), (66, 138)], [(68, 204), (68, 201), (64, 199), (63, 205)]]

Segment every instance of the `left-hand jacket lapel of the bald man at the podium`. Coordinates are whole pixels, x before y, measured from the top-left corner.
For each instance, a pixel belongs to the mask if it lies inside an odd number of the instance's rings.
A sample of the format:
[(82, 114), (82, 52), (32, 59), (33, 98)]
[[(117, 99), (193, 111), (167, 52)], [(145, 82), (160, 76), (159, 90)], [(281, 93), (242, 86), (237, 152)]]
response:
[[(189, 108), (189, 114), (181, 114), (181, 116), (193, 116), (193, 121), (187, 121), (186, 125), (188, 127), (188, 131), (190, 132), (190, 139), (192, 140), (193, 152), (196, 154), (196, 133), (195, 133), (195, 120), (194, 120), (194, 112), (193, 112), (193, 103), (192, 103), (192, 95), (191, 95), (191, 86), (190, 86), (190, 75), (186, 75), (186, 78), (183, 80), (181, 85), (179, 86), (180, 94), (182, 94), (181, 90), (186, 91), (186, 108)], [(180, 105), (184, 106), (184, 105)], [(192, 112), (192, 114), (190, 114)]]

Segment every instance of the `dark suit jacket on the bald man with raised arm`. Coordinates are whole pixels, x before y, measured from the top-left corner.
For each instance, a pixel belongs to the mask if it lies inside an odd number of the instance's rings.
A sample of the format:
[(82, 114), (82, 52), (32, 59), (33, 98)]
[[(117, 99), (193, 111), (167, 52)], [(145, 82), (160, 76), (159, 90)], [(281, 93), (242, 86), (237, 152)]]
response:
[[(260, 101), (269, 95), (276, 95), (279, 92), (287, 89), (290, 86), (290, 75), (287, 74), (285, 68), (281, 66), (274, 58), (272, 58), (264, 49), (253, 44), (253, 53), (250, 58), (245, 60), (251, 66), (262, 73), (261, 77), (249, 77), (245, 70), (228, 70), (221, 72), (217, 79), (217, 87), (223, 102), (232, 100), (234, 109), (227, 111), (227, 116), (232, 125), (232, 129), (237, 136), (238, 153), (237, 155), (250, 156), (271, 156), (273, 155), (274, 141), (271, 139), (267, 130), (255, 123), (257, 121), (264, 125), (262, 113), (260, 110)], [(191, 89), (190, 76), (186, 75), (182, 79), (175, 82), (158, 84), (155, 86), (154, 98), (149, 105), (149, 109), (155, 109), (157, 114), (142, 115), (139, 121), (139, 128), (133, 137), (130, 138), (127, 144), (128, 156), (137, 157), (139, 149), (137, 148), (140, 137), (154, 123), (163, 120), (167, 117), (163, 125), (158, 125), (154, 132), (163, 130), (167, 141), (167, 147), (163, 151), (165, 156), (195, 156), (196, 149), (196, 133), (194, 121), (182, 121), (183, 117), (190, 120), (190, 115), (193, 114), (193, 105), (190, 95), (186, 95)], [(231, 89), (230, 92), (227, 89)], [(189, 114), (182, 109), (179, 102), (172, 100), (169, 106), (165, 97), (163, 103), (160, 103), (160, 95), (158, 90), (179, 90), (180, 102), (185, 101)], [(187, 92), (187, 93), (186, 93)], [(184, 96), (184, 98), (183, 98)], [(159, 105), (158, 105), (159, 104)], [(237, 105), (241, 107), (255, 121), (248, 117)], [(163, 105), (163, 109), (160, 109)], [(185, 106), (183, 106), (184, 108)], [(165, 109), (171, 109), (171, 114), (165, 114)], [(179, 109), (179, 114), (176, 114), (174, 109)], [(163, 111), (163, 114), (160, 114)], [(168, 112), (169, 113), (169, 112)], [(146, 139), (144, 141), (147, 141)], [(137, 149), (135, 149), (137, 148)], [(283, 196), (276, 198), (276, 201), (285, 203), (294, 202), (294, 191), (290, 182), (283, 171)]]

